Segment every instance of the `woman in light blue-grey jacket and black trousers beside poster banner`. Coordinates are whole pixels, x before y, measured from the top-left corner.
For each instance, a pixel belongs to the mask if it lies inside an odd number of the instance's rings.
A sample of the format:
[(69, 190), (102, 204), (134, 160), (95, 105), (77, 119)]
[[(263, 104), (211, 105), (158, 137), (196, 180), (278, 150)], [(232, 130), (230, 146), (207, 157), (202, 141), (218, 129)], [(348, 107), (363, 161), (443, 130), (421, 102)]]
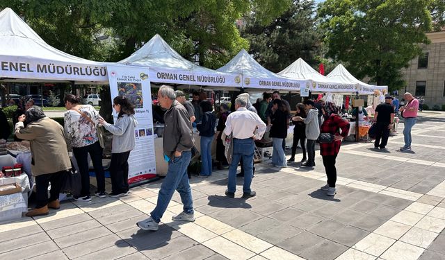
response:
[(114, 125), (107, 123), (102, 117), (99, 123), (113, 134), (111, 148), (111, 193), (108, 196), (116, 198), (127, 196), (128, 187), (128, 157), (135, 146), (134, 127), (138, 121), (134, 118), (134, 105), (124, 96), (113, 99), (113, 108), (118, 113), (118, 120)]

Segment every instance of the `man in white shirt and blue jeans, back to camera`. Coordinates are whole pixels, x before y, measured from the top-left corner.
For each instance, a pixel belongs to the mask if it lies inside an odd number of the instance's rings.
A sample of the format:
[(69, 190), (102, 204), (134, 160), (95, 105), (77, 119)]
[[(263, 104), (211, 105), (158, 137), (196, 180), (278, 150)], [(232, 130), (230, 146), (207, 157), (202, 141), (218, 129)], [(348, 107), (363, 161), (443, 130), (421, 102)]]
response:
[[(247, 102), (245, 98), (238, 97), (235, 100), (235, 112), (229, 114), (225, 123), (224, 134), (230, 135), (233, 132), (233, 156), (229, 167), (229, 183), (225, 195), (234, 198), (236, 191), (236, 168), (241, 158), (243, 158), (244, 185), (243, 198), (251, 198), (256, 195), (250, 190), (252, 183), (252, 165), (254, 155), (254, 140), (261, 139), (266, 131), (266, 124), (257, 113), (245, 108)], [(223, 135), (223, 138), (225, 138)]]

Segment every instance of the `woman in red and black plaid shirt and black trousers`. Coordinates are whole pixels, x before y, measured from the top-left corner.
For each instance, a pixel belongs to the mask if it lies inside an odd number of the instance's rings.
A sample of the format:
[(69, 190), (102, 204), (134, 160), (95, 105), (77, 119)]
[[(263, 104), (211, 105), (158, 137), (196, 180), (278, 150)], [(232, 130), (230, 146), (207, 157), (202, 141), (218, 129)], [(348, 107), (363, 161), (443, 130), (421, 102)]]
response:
[[(341, 141), (348, 136), (349, 122), (339, 116), (339, 107), (332, 102), (325, 103), (323, 107), (323, 116), (325, 121), (321, 125), (320, 132), (327, 132), (334, 135), (334, 141), (331, 143), (320, 144), (320, 153), (323, 158), (323, 165), (327, 175), (327, 184), (321, 189), (327, 191), (327, 196), (334, 196), (337, 193), (335, 182), (337, 182), (337, 168), (335, 168), (335, 159), (340, 151)], [(340, 131), (341, 130), (341, 133)]]

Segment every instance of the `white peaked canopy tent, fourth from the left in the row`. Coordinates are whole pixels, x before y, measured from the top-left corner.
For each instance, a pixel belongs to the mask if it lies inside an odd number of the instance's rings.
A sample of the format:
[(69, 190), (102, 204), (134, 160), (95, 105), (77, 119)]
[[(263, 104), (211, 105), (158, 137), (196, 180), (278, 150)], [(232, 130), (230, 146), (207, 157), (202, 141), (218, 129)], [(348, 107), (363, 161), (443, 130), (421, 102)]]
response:
[(330, 78), (326, 78), (309, 66), (302, 58), (298, 58), (295, 62), (290, 64), (286, 69), (278, 73), (287, 78), (312, 80), (312, 94), (316, 93), (355, 93), (354, 83), (339, 83)]

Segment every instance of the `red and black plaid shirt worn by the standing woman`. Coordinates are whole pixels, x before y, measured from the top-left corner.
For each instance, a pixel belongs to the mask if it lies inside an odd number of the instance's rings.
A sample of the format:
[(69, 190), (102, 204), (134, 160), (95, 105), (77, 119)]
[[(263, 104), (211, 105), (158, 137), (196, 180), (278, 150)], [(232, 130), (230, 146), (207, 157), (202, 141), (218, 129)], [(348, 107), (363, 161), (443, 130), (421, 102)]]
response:
[[(341, 134), (339, 130), (341, 129)], [(332, 135), (347, 137), (349, 133), (349, 122), (342, 119), (338, 114), (331, 114), (321, 125), (320, 132), (329, 132)], [(320, 144), (321, 155), (337, 155), (340, 151), (341, 141), (333, 141), (328, 144)]]

